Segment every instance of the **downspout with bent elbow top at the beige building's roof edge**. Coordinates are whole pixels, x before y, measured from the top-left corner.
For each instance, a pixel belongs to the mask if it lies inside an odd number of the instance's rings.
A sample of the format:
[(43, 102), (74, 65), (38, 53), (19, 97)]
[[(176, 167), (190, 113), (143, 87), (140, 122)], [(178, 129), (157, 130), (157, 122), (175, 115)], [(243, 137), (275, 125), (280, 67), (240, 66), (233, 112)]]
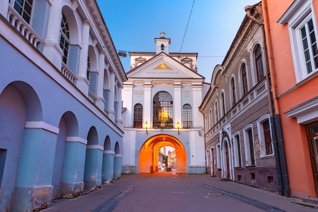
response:
[[(266, 48), (266, 40), (265, 40), (265, 28), (264, 24), (260, 22), (258, 19), (253, 17), (250, 14), (250, 11), (252, 10), (251, 6), (246, 6), (244, 8), (246, 12), (246, 16), (251, 19), (253, 22), (257, 23), (261, 26), (262, 29), (262, 52), (267, 54), (267, 48)], [(271, 133), (272, 133), (272, 139), (273, 139), (273, 145), (274, 145), (274, 151), (275, 151), (275, 161), (276, 161), (276, 171), (277, 171), (277, 177), (278, 177), (278, 195), (283, 196), (283, 180), (281, 175), (281, 164), (280, 164), (280, 158), (279, 158), (279, 151), (278, 151), (278, 143), (276, 139), (276, 133), (275, 133), (275, 127), (274, 127), (274, 113), (273, 113), (273, 106), (272, 106), (272, 94), (271, 94), (271, 86), (269, 81), (269, 72), (268, 72), (268, 58), (264, 56), (264, 71), (265, 71), (265, 81), (267, 86), (267, 97), (268, 97), (268, 106), (269, 106), (269, 114), (270, 114), (270, 124), (271, 124)]]

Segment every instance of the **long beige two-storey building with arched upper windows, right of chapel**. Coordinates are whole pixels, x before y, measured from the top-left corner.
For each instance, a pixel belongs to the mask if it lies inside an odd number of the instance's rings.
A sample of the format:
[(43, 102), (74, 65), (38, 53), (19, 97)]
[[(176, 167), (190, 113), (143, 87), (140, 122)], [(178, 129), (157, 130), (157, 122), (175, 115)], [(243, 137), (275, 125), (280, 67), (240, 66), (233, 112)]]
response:
[(200, 111), (204, 115), (207, 172), (277, 191), (272, 98), (261, 14), (261, 5), (248, 8), (224, 61), (214, 68)]

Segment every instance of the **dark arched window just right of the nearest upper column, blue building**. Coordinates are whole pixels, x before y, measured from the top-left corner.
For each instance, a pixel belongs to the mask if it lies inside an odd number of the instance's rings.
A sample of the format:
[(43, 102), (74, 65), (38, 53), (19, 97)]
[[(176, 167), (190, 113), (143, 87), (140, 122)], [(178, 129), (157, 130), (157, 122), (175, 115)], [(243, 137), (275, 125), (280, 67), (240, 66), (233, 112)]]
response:
[(62, 62), (67, 65), (68, 55), (69, 55), (69, 45), (70, 45), (70, 29), (68, 21), (62, 12), (61, 19), (61, 28), (60, 28), (60, 36), (59, 36), (59, 46), (62, 49)]

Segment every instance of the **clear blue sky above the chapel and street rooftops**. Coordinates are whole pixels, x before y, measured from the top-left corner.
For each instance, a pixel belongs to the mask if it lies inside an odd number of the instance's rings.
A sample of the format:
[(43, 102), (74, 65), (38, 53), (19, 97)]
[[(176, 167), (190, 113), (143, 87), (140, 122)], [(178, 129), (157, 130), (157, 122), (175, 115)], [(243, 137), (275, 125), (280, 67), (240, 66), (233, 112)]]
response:
[(97, 0), (116, 49), (127, 51), (128, 56), (120, 58), (125, 72), (130, 68), (128, 52), (154, 52), (154, 38), (161, 37), (164, 30), (165, 37), (171, 39), (170, 52), (198, 53), (198, 73), (209, 83), (214, 67), (222, 63), (246, 14), (244, 7), (258, 2)]

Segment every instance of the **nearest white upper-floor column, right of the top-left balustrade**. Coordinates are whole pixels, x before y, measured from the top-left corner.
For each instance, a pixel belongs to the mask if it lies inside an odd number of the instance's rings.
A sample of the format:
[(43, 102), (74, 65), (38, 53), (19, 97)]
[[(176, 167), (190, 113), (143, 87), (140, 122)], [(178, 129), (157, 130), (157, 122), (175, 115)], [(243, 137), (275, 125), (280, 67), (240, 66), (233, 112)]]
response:
[[(4, 1), (6, 2), (6, 1)], [(8, 2), (8, 1), (7, 1)], [(50, 6), (46, 38), (44, 39), (43, 54), (58, 69), (62, 67), (63, 52), (59, 47), (59, 35), (62, 18), (62, 1), (53, 0)], [(1, 8), (1, 7), (0, 7)], [(6, 17), (6, 16), (5, 16)]]

